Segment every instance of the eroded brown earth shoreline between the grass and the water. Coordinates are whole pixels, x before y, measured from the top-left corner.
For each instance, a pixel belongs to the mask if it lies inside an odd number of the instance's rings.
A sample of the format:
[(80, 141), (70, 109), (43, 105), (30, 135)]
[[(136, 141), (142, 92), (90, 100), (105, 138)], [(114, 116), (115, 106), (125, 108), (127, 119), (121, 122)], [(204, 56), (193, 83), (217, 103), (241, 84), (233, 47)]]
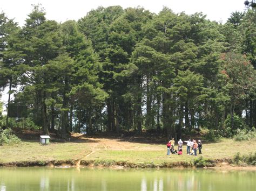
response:
[(55, 167), (55, 168), (111, 168), (111, 169), (128, 169), (128, 168), (187, 168), (187, 169), (214, 169), (220, 171), (256, 171), (256, 166), (251, 165), (234, 165), (231, 159), (207, 160), (205, 166), (196, 166), (193, 161), (164, 162), (161, 164), (151, 163), (131, 163), (126, 161), (109, 161), (109, 160), (51, 160), (51, 161), (19, 161), (19, 162), (0, 162), (0, 167)]

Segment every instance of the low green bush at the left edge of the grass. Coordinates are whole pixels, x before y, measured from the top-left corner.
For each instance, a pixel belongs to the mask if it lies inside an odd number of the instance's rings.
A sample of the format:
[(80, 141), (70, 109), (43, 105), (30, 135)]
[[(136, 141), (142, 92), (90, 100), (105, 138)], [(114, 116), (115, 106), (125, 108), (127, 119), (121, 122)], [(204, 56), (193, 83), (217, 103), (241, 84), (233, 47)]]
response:
[(11, 129), (5, 129), (0, 133), (0, 145), (13, 145), (21, 142)]

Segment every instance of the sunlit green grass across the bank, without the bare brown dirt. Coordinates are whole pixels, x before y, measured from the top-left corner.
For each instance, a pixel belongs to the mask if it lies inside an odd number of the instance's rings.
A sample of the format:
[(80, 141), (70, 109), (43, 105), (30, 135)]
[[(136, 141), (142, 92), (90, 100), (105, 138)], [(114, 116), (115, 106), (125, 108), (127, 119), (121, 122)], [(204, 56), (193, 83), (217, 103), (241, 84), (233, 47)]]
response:
[[(35, 142), (22, 142), (18, 145), (0, 146), (0, 162), (83, 159), (126, 161), (136, 164), (151, 162), (160, 164), (178, 161), (189, 162), (195, 159), (195, 156), (186, 155), (186, 145), (184, 145), (183, 155), (171, 154), (167, 156), (165, 144), (130, 143), (130, 150), (124, 151), (110, 150), (110, 148), (105, 150), (101, 143), (93, 146), (91, 144), (69, 142), (39, 145)], [(152, 148), (152, 150), (146, 151), (145, 146)], [(86, 157), (91, 151), (94, 152)], [(235, 142), (233, 139), (221, 139), (217, 143), (203, 143), (202, 156), (206, 159), (231, 159), (237, 152), (243, 155), (255, 151), (255, 140)]]

